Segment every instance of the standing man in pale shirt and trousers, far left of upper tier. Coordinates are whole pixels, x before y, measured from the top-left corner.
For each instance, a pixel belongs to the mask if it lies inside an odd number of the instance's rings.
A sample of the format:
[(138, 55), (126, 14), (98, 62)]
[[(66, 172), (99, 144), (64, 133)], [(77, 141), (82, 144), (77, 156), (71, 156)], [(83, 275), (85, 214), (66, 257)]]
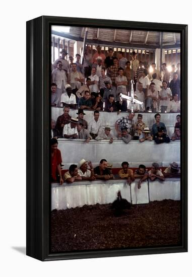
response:
[(51, 73), (51, 82), (56, 84), (56, 100), (54, 103), (60, 107), (61, 94), (65, 91), (67, 85), (67, 76), (64, 70), (62, 70), (62, 62), (57, 61), (56, 68)]

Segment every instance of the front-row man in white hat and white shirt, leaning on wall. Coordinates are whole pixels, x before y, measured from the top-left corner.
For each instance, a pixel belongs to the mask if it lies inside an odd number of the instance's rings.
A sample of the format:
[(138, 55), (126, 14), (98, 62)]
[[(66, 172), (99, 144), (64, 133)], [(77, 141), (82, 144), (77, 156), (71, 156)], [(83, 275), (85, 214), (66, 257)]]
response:
[[(88, 169), (88, 165), (90, 169)], [(79, 162), (78, 174), (81, 176), (82, 180), (94, 181), (96, 179), (91, 161), (87, 162), (85, 159)]]

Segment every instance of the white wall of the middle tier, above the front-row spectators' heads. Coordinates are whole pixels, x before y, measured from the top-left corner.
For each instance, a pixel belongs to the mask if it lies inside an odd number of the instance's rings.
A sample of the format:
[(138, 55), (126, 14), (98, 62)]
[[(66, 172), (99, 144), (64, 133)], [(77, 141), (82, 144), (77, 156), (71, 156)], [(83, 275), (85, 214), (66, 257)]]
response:
[[(58, 139), (58, 149), (61, 151), (63, 169), (68, 169), (71, 164), (77, 164), (85, 159), (98, 165), (101, 159), (106, 159), (113, 164), (113, 167), (120, 167), (123, 161), (128, 161), (130, 167), (137, 167), (139, 164), (151, 166), (158, 162), (160, 166), (167, 166), (170, 162), (180, 164), (180, 143), (170, 142), (169, 144), (157, 145), (154, 142), (131, 141), (125, 144), (122, 141), (90, 141), (85, 144), (82, 140)], [(163, 164), (162, 164), (163, 163)]]

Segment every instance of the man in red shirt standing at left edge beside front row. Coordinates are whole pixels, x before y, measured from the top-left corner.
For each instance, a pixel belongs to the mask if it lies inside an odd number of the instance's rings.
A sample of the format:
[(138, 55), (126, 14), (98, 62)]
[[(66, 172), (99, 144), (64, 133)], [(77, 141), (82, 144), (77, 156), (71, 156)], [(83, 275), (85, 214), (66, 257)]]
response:
[(60, 150), (57, 149), (58, 142), (56, 138), (51, 138), (51, 181), (59, 182), (60, 185), (63, 183), (62, 175), (61, 175), (61, 167), (62, 163)]

